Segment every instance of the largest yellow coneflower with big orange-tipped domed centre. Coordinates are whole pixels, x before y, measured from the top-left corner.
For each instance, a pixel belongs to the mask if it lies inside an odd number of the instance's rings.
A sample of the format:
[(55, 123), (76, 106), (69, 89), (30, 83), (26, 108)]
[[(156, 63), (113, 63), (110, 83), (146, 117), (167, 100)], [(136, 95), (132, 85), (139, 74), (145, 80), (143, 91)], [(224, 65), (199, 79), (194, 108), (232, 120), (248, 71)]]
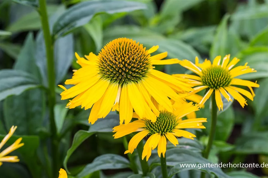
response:
[[(192, 91), (191, 85), (182, 82), (171, 75), (157, 71), (152, 65), (167, 65), (178, 63), (178, 59), (162, 60), (167, 52), (154, 56), (158, 46), (149, 50), (142, 44), (128, 38), (112, 40), (101, 49), (98, 56), (92, 52), (79, 57), (77, 63), (81, 68), (74, 71), (72, 79), (65, 84), (75, 86), (61, 93), (61, 99), (69, 99), (67, 107), (80, 106), (89, 109), (89, 123), (98, 118), (104, 118), (111, 111), (120, 111), (120, 124), (129, 123), (134, 111), (141, 118), (152, 121), (159, 116), (159, 111), (151, 101), (153, 99), (172, 112), (169, 98), (177, 101), (181, 96), (177, 93)], [(94, 105), (93, 105), (94, 104)]]

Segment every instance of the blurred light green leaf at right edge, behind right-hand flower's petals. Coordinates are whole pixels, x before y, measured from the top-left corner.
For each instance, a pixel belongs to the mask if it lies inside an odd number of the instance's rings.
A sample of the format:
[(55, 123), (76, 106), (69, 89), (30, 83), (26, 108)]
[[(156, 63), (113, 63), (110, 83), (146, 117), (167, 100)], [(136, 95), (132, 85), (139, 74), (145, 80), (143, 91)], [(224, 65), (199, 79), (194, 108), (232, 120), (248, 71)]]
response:
[(256, 46), (249, 47), (239, 53), (237, 56), (240, 61), (236, 65), (244, 65), (248, 62), (251, 68), (257, 70), (249, 74), (238, 76), (240, 79), (257, 79), (268, 77), (268, 47), (267, 46)]

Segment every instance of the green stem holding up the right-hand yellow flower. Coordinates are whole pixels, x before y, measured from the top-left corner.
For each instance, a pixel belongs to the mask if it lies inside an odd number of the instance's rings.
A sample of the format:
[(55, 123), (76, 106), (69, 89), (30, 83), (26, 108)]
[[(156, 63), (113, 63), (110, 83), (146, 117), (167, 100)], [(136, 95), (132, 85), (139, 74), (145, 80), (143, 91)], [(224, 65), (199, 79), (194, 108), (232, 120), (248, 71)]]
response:
[[(217, 124), (217, 111), (218, 110), (217, 110), (217, 104), (216, 104), (216, 99), (215, 99), (215, 92), (213, 92), (211, 95), (211, 102), (212, 102), (212, 109), (211, 109), (211, 127), (210, 127), (210, 132), (209, 132), (209, 141), (203, 153), (203, 157), (206, 159), (209, 157), (209, 152), (212, 148), (212, 143), (214, 140), (216, 124)], [(202, 172), (201, 178), (204, 178), (205, 176), (206, 176), (206, 173)]]

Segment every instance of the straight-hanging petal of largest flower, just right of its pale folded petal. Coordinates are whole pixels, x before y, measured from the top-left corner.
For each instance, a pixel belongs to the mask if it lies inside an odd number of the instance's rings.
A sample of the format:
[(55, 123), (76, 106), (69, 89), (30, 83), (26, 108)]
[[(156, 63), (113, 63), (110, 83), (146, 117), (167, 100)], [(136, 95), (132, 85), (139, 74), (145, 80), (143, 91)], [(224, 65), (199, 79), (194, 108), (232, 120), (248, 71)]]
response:
[(133, 107), (129, 100), (128, 94), (128, 85), (123, 85), (121, 90), (120, 102), (119, 102), (119, 119), (120, 124), (125, 121), (125, 124), (128, 124), (131, 121), (133, 114)]

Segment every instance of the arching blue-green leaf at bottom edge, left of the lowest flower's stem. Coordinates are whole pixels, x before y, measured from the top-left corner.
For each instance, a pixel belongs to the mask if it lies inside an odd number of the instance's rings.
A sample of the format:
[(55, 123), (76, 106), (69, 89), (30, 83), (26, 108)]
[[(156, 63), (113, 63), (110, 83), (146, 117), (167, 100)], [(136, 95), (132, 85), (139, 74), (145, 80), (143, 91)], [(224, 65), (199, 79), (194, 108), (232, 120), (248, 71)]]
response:
[(93, 162), (87, 164), (76, 177), (82, 178), (92, 172), (102, 169), (124, 169), (129, 168), (129, 166), (129, 160), (125, 157), (115, 154), (105, 154), (96, 157)]

